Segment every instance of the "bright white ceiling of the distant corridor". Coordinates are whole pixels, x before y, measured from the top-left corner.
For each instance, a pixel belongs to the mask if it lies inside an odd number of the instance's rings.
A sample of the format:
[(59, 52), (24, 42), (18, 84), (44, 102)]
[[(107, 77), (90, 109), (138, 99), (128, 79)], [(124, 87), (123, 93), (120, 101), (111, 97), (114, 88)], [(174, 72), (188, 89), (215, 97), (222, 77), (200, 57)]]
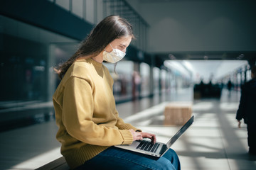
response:
[(193, 82), (203, 80), (208, 83), (220, 81), (223, 78), (245, 72), (248, 62), (245, 60), (169, 60), (164, 62), (166, 67), (175, 69)]

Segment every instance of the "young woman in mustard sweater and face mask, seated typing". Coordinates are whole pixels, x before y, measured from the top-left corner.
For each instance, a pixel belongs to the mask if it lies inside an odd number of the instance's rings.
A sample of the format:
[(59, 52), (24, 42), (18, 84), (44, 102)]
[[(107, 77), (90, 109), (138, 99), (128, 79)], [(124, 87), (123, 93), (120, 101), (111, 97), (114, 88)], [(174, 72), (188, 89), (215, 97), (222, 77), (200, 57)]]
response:
[(73, 57), (55, 71), (61, 81), (53, 95), (57, 140), (71, 169), (180, 169), (174, 150), (160, 159), (112, 147), (156, 136), (119, 118), (110, 72), (102, 64), (124, 57), (134, 35), (119, 16), (108, 16), (92, 30)]

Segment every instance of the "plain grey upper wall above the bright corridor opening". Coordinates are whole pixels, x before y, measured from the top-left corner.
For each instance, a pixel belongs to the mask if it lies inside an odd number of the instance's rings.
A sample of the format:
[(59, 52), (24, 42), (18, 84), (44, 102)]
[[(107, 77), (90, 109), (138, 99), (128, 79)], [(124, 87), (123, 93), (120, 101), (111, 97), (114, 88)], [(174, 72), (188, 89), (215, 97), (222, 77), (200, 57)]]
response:
[[(256, 48), (253, 46), (255, 45), (255, 30), (250, 29), (255, 28), (255, 24), (250, 20), (250, 17), (254, 16), (254, 10), (250, 8), (253, 3), (243, 5), (242, 1), (236, 1), (233, 6), (230, 6), (231, 0), (215, 1), (207, 3), (208, 1), (204, 0), (139, 0), (139, 3), (134, 4), (135, 8), (140, 7), (137, 10), (142, 13), (151, 29), (160, 30), (159, 32), (164, 34), (161, 36), (160, 33), (157, 33), (158, 37), (151, 36), (151, 40), (154, 40), (155, 44), (151, 43), (150, 47), (157, 47), (161, 42), (165, 45), (162, 45), (164, 47), (159, 48), (160, 50), (151, 50), (151, 52), (154, 52), (156, 60), (161, 60), (161, 62), (165, 60), (247, 60), (255, 62)], [(150, 5), (146, 6), (146, 4)], [(203, 8), (202, 12), (197, 12), (197, 10), (200, 11), (200, 7)], [(160, 8), (160, 10), (151, 14), (154, 8)], [(237, 13), (238, 8), (241, 10), (240, 14)], [(204, 16), (201, 16), (202, 13)], [(220, 18), (225, 19), (221, 20)], [(165, 29), (162, 30), (160, 26), (157, 27), (161, 24), (161, 26), (164, 26), (165, 23)], [(212, 33), (212, 35), (201, 36), (199, 30), (203, 30), (204, 26), (208, 26), (207, 24), (209, 24), (209, 28), (206, 27), (206, 30), (209, 32), (206, 33)], [(169, 29), (175, 30), (177, 35), (169, 33)], [(215, 51), (198, 51), (198, 49), (204, 50), (204, 48), (196, 41), (196, 45), (189, 46), (189, 43), (192, 44), (193, 41), (191, 40), (195, 37), (201, 38), (198, 41), (202, 44), (203, 42), (209, 42), (206, 49), (214, 49)], [(171, 40), (171, 38), (173, 38), (173, 42), (177, 41), (175, 47), (166, 45), (168, 44), (166, 40)], [(179, 41), (179, 38), (183, 41)], [(218, 40), (215, 40), (215, 38)], [(173, 44), (175, 45), (175, 43)], [(215, 45), (215, 43), (218, 45)], [(213, 48), (213, 45), (216, 48)], [(223, 51), (225, 45), (230, 51)], [(176, 47), (179, 47), (181, 51), (169, 51), (169, 49), (178, 49)], [(186, 51), (186, 49), (192, 49), (192, 51)], [(218, 49), (221, 50), (218, 51)]]

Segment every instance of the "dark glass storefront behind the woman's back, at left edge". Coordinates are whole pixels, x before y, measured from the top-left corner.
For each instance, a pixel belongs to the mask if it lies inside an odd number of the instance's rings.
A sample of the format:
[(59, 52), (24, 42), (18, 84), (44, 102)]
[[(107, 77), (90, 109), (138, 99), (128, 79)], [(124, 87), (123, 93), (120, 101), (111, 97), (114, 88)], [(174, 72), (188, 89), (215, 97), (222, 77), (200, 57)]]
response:
[(48, 119), (58, 84), (53, 73), (57, 55), (49, 50), (53, 42), (76, 41), (5, 16), (0, 23), (1, 125), (14, 128)]

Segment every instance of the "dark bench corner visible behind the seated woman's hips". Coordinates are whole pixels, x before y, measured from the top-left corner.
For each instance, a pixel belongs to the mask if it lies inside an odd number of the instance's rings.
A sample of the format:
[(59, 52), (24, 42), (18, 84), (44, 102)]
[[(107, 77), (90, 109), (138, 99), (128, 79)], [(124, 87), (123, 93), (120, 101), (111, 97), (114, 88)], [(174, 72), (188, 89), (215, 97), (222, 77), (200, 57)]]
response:
[(68, 166), (67, 162), (65, 161), (64, 157), (60, 157), (58, 159), (55, 159), (53, 162), (50, 162), (48, 164), (45, 164), (41, 167), (39, 167), (36, 170), (69, 170), (70, 167)]

